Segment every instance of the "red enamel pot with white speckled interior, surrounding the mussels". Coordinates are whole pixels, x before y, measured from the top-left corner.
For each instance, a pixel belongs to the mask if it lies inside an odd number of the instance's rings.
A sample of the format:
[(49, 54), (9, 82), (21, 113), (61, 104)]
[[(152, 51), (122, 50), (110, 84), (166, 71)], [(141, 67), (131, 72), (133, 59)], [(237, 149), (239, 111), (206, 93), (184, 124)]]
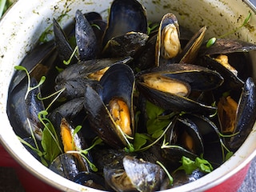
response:
[[(86, 186), (80, 186), (55, 174), (43, 166), (41, 162), (38, 162), (18, 141), (6, 114), (7, 91), (11, 76), (14, 73), (14, 66), (18, 65), (27, 52), (34, 47), (40, 34), (51, 25), (53, 18), (58, 18), (61, 14), (68, 14), (70, 17), (64, 17), (61, 24), (68, 23), (74, 18), (77, 9), (83, 10), (83, 12), (94, 10), (103, 13), (103, 15), (105, 14), (104, 16), (106, 17), (106, 9), (110, 7), (110, 2), (109, 0), (19, 0), (0, 22), (0, 119), (2, 124), (0, 126), (0, 139), (2, 146), (22, 166), (22, 170), (18, 170), (18, 172), (24, 174), (23, 170), (28, 171), (34, 175), (34, 177), (28, 179), (38, 178), (42, 181), (42, 185), (46, 183), (46, 186), (53, 186), (63, 191), (98, 191)], [(150, 21), (159, 21), (163, 14), (172, 12), (177, 15), (178, 21), (182, 26), (187, 26), (194, 32), (200, 26), (208, 26), (206, 38), (218, 37), (230, 30), (234, 30), (234, 28), (242, 25), (248, 12), (254, 12), (253, 3), (240, 0), (194, 0), (193, 3), (190, 0), (142, 0), (139, 2), (146, 6)], [(241, 38), (244, 41), (256, 43), (254, 29), (256, 29), (255, 14), (250, 18), (250, 28), (243, 27), (229, 37)], [(52, 37), (50, 36), (50, 38)], [(256, 53), (252, 53), (251, 58), (255, 65)], [(254, 78), (256, 78), (255, 71), (254, 67)], [(238, 190), (246, 175), (250, 161), (256, 155), (255, 140), (256, 125), (254, 125), (246, 142), (222, 166), (195, 182), (168, 190), (168, 192)], [(28, 189), (45, 189), (40, 188), (41, 186), (36, 186), (37, 184), (33, 180), (29, 181), (24, 176), (22, 177), (25, 185), (30, 185), (27, 186)]]

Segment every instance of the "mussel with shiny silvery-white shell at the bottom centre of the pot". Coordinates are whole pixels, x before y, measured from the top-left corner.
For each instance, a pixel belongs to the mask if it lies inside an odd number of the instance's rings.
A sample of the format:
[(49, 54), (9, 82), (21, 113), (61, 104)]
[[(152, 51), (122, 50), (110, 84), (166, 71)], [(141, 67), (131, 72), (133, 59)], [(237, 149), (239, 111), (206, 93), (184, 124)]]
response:
[(160, 166), (131, 156), (122, 160), (122, 169), (105, 169), (106, 182), (116, 191), (160, 190), (166, 174)]

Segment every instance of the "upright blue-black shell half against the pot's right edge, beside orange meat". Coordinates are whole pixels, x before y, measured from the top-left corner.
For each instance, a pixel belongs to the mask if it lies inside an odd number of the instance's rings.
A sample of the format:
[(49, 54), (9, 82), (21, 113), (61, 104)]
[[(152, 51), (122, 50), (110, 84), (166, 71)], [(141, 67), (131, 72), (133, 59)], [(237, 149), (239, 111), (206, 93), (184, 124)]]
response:
[(247, 78), (238, 102), (234, 136), (230, 138), (230, 148), (238, 150), (250, 134), (256, 120), (256, 87), (252, 78)]

